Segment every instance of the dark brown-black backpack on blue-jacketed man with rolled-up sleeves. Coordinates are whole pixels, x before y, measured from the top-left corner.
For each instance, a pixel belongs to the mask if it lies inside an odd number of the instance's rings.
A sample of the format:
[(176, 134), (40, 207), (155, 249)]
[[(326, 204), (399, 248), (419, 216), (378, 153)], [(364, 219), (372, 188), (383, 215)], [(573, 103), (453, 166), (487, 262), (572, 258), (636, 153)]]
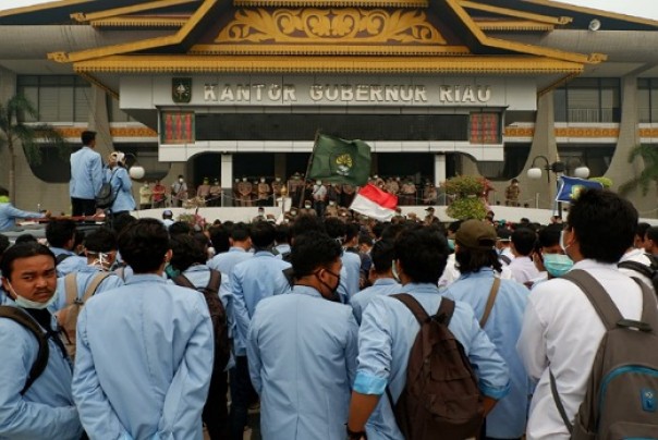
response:
[(406, 293), (391, 295), (416, 317), (421, 331), (409, 356), (406, 384), (393, 404), (395, 421), (406, 440), (477, 438), (484, 423), (484, 399), (464, 347), (448, 329), (454, 301), (441, 298), (428, 316)]

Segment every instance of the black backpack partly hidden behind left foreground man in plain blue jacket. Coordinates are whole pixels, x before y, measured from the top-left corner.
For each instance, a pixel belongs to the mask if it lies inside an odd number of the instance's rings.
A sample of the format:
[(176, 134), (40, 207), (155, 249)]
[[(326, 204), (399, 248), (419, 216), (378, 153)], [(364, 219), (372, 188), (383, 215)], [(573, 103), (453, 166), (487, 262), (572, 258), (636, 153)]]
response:
[(219, 285), (221, 283), (221, 273), (210, 269), (210, 281), (205, 288), (197, 289), (184, 274), (179, 274), (172, 279), (174, 283), (183, 288), (194, 289), (204, 294), (210, 319), (212, 320), (212, 332), (215, 333), (215, 363), (212, 369), (221, 372), (227, 367), (231, 357), (231, 342), (229, 340), (229, 326), (227, 323), (227, 310), (219, 298)]

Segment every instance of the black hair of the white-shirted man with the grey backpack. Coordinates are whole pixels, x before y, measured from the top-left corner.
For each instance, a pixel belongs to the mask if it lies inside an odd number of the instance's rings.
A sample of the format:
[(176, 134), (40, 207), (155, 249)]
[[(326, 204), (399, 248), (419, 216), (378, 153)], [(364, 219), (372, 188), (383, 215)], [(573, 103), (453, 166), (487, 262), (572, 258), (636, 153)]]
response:
[(610, 191), (585, 190), (572, 203), (566, 223), (583, 257), (617, 264), (633, 245), (637, 210)]

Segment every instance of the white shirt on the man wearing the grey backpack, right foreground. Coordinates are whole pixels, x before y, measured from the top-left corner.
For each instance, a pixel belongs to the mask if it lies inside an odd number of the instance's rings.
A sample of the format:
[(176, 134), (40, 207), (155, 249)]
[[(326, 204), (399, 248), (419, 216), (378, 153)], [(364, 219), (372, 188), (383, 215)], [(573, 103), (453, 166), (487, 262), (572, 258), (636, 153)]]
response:
[[(586, 259), (576, 262), (574, 269), (584, 269), (594, 276), (622, 316), (641, 318), (642, 291), (616, 265)], [(574, 283), (556, 278), (533, 288), (516, 344), (527, 374), (539, 379), (531, 403), (527, 440), (570, 438), (550, 392), (548, 366), (573, 423), (585, 398), (594, 356), (605, 331), (592, 303)]]

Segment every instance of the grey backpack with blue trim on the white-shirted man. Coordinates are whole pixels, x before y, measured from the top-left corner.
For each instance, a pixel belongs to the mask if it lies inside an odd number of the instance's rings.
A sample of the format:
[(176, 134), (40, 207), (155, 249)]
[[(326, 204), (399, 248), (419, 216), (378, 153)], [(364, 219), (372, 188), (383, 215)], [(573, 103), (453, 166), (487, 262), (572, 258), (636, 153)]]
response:
[(556, 379), (550, 387), (562, 420), (574, 440), (658, 439), (658, 305), (650, 289), (642, 289), (642, 321), (625, 319), (604, 286), (584, 270), (562, 277), (587, 295), (606, 326), (585, 400), (566, 417)]

